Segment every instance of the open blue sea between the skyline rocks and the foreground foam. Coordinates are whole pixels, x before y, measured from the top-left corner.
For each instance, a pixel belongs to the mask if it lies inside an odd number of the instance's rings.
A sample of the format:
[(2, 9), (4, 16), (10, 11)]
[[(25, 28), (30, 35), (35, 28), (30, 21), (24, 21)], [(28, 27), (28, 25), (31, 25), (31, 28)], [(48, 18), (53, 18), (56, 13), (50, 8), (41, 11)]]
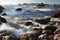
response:
[[(44, 17), (51, 16), (56, 12), (60, 6), (45, 6), (38, 9), (36, 5), (3, 5), (5, 7), (4, 13), (13, 17)], [(16, 8), (22, 8), (22, 11), (15, 11)]]

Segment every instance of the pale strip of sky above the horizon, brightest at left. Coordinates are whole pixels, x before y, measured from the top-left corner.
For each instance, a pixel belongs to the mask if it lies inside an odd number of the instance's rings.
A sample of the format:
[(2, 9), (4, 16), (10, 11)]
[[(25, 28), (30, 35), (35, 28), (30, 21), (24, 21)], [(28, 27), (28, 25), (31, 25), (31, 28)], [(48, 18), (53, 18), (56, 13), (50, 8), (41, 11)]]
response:
[(59, 3), (60, 0), (0, 0), (0, 4), (18, 4), (18, 3)]

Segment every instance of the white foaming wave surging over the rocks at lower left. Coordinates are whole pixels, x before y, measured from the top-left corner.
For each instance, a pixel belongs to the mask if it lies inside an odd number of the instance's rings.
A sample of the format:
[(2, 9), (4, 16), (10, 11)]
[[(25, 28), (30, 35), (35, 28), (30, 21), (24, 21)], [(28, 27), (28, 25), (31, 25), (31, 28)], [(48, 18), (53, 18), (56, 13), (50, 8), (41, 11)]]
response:
[(11, 33), (12, 35), (15, 35), (16, 37), (19, 37), (20, 35), (25, 34), (25, 33), (31, 33), (26, 28), (16, 29), (14, 27), (11, 27), (7, 23), (3, 23), (0, 26), (1, 26), (0, 31), (5, 31), (6, 30), (7, 33)]

